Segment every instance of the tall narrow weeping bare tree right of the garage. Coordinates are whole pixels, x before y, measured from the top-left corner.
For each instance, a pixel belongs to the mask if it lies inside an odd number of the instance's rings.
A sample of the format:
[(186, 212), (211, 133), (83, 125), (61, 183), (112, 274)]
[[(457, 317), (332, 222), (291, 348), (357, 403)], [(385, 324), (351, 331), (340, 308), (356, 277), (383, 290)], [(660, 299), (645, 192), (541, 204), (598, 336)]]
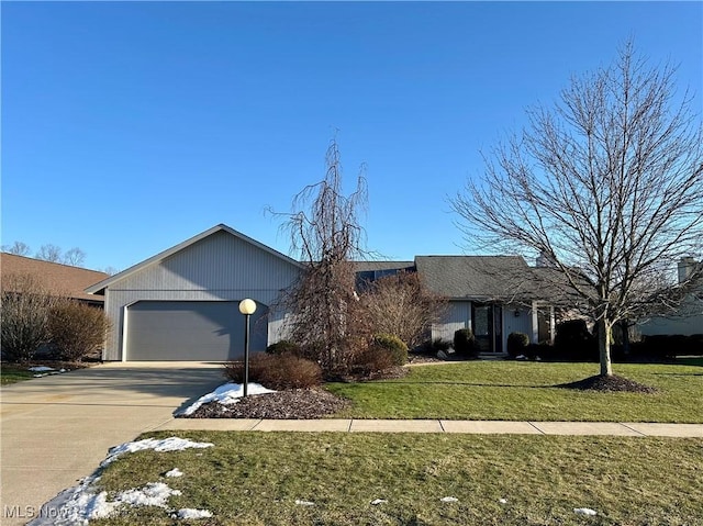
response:
[(336, 141), (326, 153), (325, 178), (305, 187), (284, 214), (292, 248), (306, 266), (283, 302), (292, 310), (292, 338), (325, 372), (350, 363), (358, 338), (364, 337), (364, 313), (355, 291), (353, 259), (361, 253), (358, 212), (366, 204), (366, 181), (359, 174), (356, 190), (345, 195)]

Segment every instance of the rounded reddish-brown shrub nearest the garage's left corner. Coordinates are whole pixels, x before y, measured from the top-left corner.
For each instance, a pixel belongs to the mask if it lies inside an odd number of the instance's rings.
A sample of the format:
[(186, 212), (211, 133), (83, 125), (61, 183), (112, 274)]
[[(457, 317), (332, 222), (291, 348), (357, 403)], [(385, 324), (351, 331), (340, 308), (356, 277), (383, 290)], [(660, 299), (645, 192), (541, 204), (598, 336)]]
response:
[(66, 300), (51, 310), (48, 327), (59, 358), (80, 361), (103, 345), (110, 321), (102, 309)]

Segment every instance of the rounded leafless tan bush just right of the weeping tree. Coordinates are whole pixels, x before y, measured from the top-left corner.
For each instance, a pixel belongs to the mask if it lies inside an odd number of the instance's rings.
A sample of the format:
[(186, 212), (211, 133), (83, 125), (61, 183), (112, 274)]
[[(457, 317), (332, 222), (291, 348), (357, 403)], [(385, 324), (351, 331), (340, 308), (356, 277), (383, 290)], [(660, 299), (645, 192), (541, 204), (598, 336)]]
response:
[(375, 334), (398, 336), (410, 348), (423, 343), (447, 304), (424, 287), (416, 272), (399, 272), (369, 283), (361, 301)]

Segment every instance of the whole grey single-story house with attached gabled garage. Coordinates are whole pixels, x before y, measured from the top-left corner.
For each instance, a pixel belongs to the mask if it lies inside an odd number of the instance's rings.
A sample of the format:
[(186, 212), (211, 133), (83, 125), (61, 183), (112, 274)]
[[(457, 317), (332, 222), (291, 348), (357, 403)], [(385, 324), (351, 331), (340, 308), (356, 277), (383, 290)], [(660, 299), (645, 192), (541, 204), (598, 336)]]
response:
[[(471, 328), (486, 352), (505, 350), (507, 335), (533, 342), (554, 335), (554, 309), (535, 296), (534, 267), (518, 256), (417, 256), (414, 261), (357, 262), (358, 283), (416, 271), (449, 301), (433, 338)], [(256, 301), (252, 350), (284, 336), (281, 292), (304, 265), (226, 226), (214, 226), (89, 287), (104, 298), (113, 331), (104, 360), (225, 361), (241, 357), (244, 316), (238, 302)]]

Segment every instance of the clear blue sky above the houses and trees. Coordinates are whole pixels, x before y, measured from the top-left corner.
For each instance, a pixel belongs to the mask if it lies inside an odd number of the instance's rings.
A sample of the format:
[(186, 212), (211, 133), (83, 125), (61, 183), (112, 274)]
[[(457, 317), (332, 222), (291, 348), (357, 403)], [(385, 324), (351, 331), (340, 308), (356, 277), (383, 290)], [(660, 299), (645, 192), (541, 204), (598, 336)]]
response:
[(368, 248), (461, 254), (447, 197), (480, 152), (634, 37), (703, 108), (702, 2), (7, 2), (2, 244), (125, 269), (367, 166)]

